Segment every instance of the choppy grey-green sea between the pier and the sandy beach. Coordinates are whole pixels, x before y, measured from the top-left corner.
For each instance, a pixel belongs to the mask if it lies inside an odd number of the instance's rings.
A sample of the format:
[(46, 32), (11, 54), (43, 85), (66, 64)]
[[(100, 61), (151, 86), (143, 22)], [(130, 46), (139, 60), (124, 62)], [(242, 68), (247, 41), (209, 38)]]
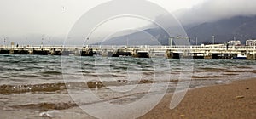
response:
[(1, 54), (0, 118), (104, 118), (115, 110), (100, 106), (141, 109), (142, 100), (158, 102), (161, 94), (253, 78), (255, 65), (232, 59)]

